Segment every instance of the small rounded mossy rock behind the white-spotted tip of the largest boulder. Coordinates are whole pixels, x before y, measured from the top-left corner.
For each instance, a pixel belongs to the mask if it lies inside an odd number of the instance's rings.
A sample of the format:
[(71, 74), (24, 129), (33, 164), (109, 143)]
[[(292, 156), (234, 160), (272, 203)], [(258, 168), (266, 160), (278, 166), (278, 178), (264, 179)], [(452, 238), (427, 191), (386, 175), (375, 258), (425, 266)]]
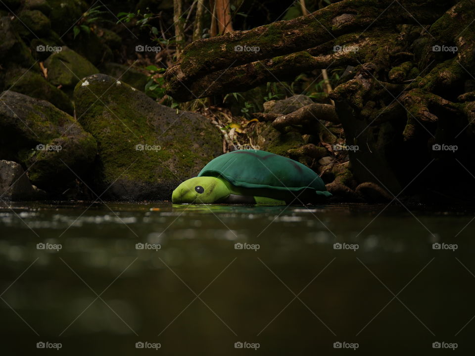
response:
[(55, 86), (73, 88), (82, 78), (99, 73), (99, 70), (83, 56), (64, 46), (45, 61), (48, 81)]

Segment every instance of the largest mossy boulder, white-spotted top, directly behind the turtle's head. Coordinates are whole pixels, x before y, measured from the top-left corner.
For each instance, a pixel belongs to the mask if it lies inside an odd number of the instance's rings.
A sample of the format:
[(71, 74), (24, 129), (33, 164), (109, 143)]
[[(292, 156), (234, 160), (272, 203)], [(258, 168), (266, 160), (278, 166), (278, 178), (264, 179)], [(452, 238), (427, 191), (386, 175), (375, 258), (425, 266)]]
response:
[(110, 185), (108, 198), (170, 199), (179, 183), (222, 153), (209, 119), (160, 105), (105, 74), (78, 83), (74, 102), (79, 122), (97, 140), (95, 185)]

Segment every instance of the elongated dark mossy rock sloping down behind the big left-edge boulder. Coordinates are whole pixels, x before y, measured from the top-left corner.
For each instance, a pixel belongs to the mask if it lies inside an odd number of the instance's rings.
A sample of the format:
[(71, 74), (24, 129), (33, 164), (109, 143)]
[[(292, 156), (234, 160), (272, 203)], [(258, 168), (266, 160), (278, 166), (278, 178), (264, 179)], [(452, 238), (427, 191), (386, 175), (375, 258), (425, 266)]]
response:
[(73, 114), (74, 107), (68, 96), (52, 86), (40, 74), (25, 68), (12, 68), (6, 74), (6, 88), (37, 99), (47, 100), (58, 109)]

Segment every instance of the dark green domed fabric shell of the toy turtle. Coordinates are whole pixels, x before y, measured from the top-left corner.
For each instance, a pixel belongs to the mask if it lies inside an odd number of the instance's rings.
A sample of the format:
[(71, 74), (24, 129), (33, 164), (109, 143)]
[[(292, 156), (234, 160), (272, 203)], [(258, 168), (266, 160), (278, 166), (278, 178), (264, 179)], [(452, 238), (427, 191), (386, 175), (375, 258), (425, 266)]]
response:
[(209, 162), (198, 177), (226, 178), (243, 188), (269, 188), (298, 192), (313, 189), (317, 194), (331, 196), (325, 183), (307, 166), (290, 158), (259, 150), (238, 150), (225, 153)]

